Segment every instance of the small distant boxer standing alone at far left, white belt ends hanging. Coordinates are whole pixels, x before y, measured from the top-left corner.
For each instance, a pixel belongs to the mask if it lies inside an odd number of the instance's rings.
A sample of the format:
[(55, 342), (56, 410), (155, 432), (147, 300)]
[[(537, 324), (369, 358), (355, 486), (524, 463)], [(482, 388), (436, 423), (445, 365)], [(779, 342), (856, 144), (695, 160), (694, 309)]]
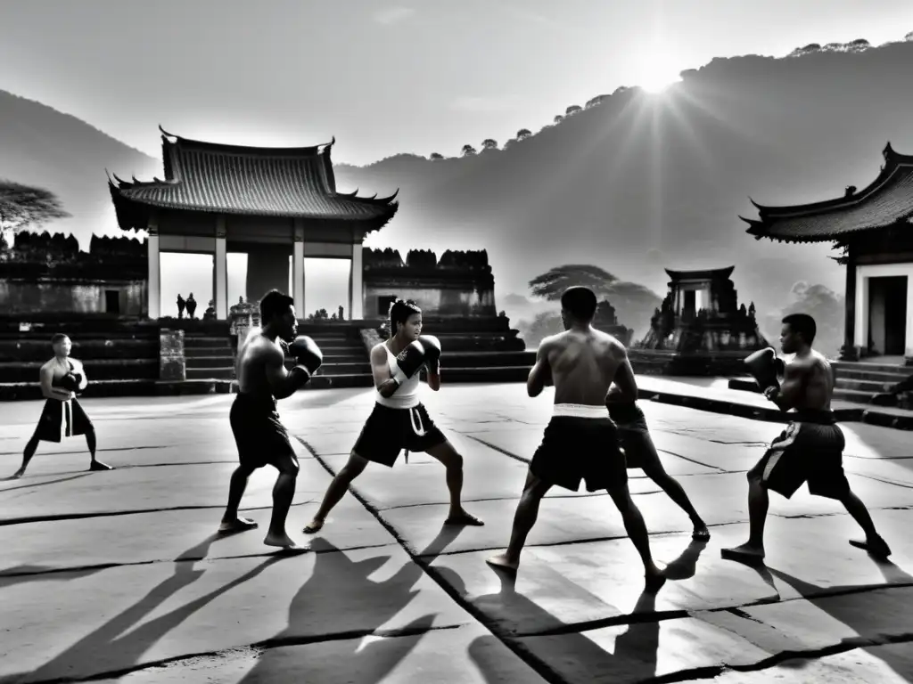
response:
[(110, 471), (110, 465), (105, 465), (95, 458), (95, 426), (82, 409), (76, 396), (89, 385), (86, 371), (82, 363), (69, 357), (73, 343), (63, 334), (51, 338), (54, 347), (54, 358), (41, 367), (41, 393), (45, 396), (45, 408), (41, 411), (41, 418), (32, 439), (26, 443), (26, 451), (22, 454), (22, 467), (17, 470), (11, 479), (22, 477), (26, 473), (29, 461), (35, 455), (38, 441), (60, 442), (64, 437), (86, 436), (89, 445), (90, 471)]

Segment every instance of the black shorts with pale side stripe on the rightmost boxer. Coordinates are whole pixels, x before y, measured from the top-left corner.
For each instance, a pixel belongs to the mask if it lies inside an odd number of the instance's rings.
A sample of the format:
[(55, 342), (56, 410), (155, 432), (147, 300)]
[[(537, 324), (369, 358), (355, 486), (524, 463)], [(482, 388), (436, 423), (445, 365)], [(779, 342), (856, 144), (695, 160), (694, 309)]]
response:
[(850, 491), (843, 465), (844, 433), (830, 411), (801, 418), (771, 442), (748, 478), (787, 499), (808, 482), (810, 494), (839, 500)]

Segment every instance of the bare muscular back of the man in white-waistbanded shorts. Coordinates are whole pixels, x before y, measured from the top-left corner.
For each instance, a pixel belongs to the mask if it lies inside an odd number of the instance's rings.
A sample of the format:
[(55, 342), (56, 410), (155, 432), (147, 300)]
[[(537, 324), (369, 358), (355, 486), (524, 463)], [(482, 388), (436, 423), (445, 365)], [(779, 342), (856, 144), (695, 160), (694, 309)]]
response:
[(556, 404), (601, 406), (619, 366), (624, 346), (600, 330), (568, 330), (543, 341)]

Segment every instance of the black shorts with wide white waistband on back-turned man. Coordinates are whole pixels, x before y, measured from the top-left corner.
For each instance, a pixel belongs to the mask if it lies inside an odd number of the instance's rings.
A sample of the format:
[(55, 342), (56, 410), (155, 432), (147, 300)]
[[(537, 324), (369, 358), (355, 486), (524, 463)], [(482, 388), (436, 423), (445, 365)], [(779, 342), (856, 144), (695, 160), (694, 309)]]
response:
[(542, 482), (577, 492), (614, 489), (627, 483), (618, 429), (604, 406), (555, 404), (542, 442), (530, 461)]

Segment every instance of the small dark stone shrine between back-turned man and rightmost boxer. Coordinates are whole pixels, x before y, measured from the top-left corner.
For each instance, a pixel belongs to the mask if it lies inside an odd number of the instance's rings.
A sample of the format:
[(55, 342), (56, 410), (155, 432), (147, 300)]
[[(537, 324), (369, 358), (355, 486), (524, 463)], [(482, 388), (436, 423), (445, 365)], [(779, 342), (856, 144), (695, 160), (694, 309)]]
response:
[(735, 266), (707, 271), (670, 271), (669, 291), (638, 346), (663, 353), (671, 375), (739, 373), (741, 360), (770, 347), (761, 335), (754, 303), (739, 304), (730, 276)]

